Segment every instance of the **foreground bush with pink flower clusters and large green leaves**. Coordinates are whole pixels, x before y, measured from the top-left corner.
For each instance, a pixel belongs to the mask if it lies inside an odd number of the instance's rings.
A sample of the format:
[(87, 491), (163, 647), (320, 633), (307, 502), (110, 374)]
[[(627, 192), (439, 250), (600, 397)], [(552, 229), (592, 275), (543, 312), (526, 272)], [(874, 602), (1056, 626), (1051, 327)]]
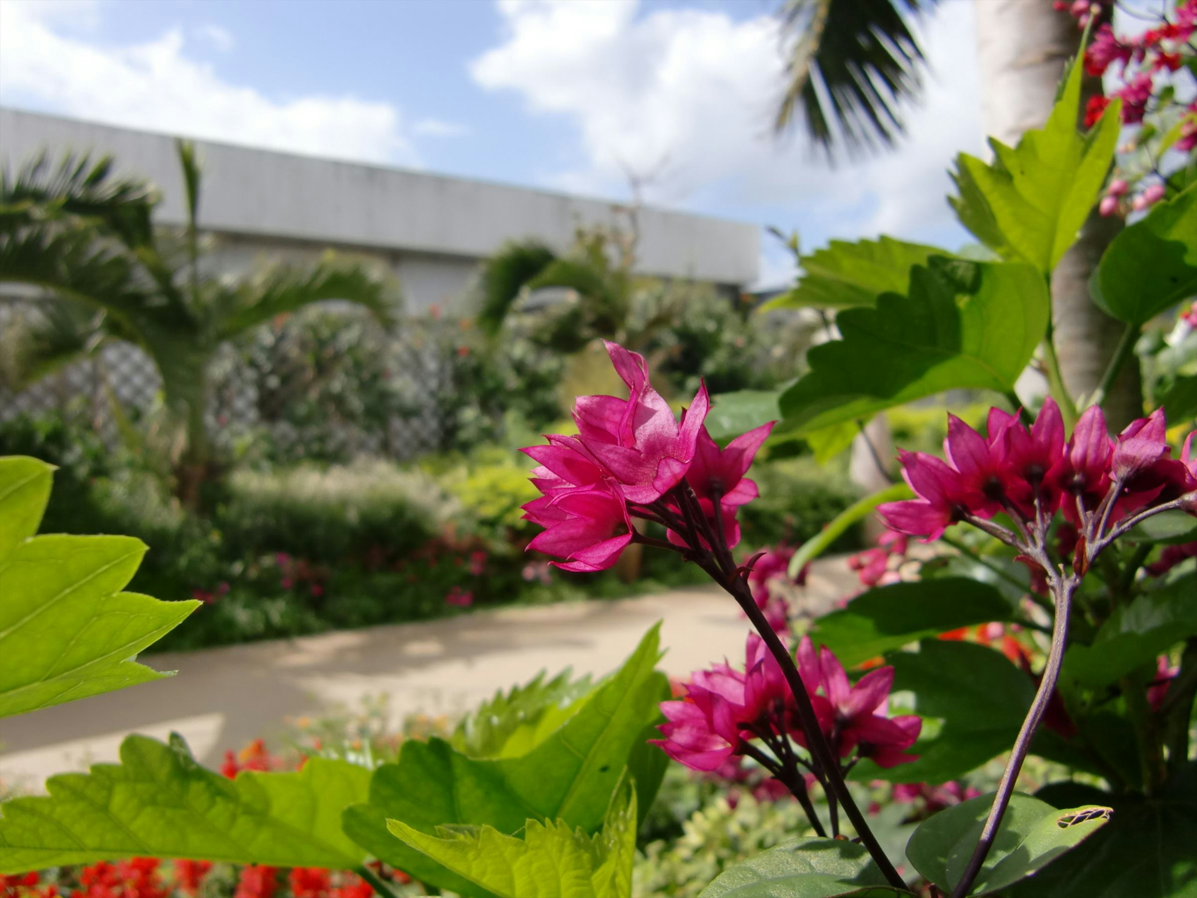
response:
[[(844, 272), (840, 286), (800, 283), (783, 304), (840, 290), (839, 339), (773, 400), (715, 398), (739, 435), (707, 430), (705, 384), (679, 418), (645, 360), (608, 344), (627, 395), (579, 396), (578, 433), (525, 450), (540, 493), (523, 506), (541, 528), (529, 547), (571, 575), (610, 569), (630, 546), (672, 553), (747, 617), (742, 667), (711, 665), (675, 694), (655, 669), (654, 627), (606, 678), (537, 676), (384, 762), (363, 747), (279, 770), (254, 751), (230, 759), (232, 779), (178, 736), (133, 735), (121, 764), (0, 806), (0, 873), (86, 867), (85, 888), (115, 890), (122, 875), (153, 892), (156, 862), (130, 858), (154, 856), (241, 864), (244, 898), (281, 890), (282, 869), (296, 898), (346, 898), (365, 887), (345, 872), (393, 891), (382, 862), (468, 898), (628, 898), (637, 832), (672, 758), (733, 783), (729, 811), (751, 789), (752, 801), (792, 795), (780, 807), (802, 814), (788, 818), (795, 838), (695, 873), (713, 876), (703, 898), (1192, 894), (1195, 438), (1180, 413), (1169, 431), (1162, 408), (1111, 436), (1102, 401), (1144, 324), (1189, 314), (1197, 187), (1179, 176), (1106, 249), (1092, 292), (1125, 336), (1099, 388), (1071, 395), (1049, 284), (1102, 192), (1122, 103), (1135, 102), (1114, 99), (1082, 135), (1081, 77), (1073, 66), (1041, 131), (995, 144), (992, 163), (958, 162), (953, 207), (992, 259), (891, 239), (825, 250), (850, 260), (822, 268)], [(853, 280), (862, 260), (869, 274)], [(1031, 414), (1015, 384), (1033, 359), (1050, 396)], [(792, 551), (743, 551), (759, 493), (748, 474), (767, 441), (834, 442), (960, 389), (1007, 407), (984, 433), (949, 418), (944, 457), (904, 450), (905, 483)], [(29, 459), (0, 462), (0, 594), (18, 596), (16, 615), (0, 611), (0, 657), (20, 661), (0, 668), (0, 715), (153, 679), (123, 659), (196, 605), (119, 591), (140, 557), (127, 540), (34, 536), (49, 478)], [(794, 615), (788, 593), (807, 563), (874, 511), (891, 533), (856, 565), (865, 591), (813, 621)], [(463, 603), (466, 591), (449, 595)], [(1027, 776), (1031, 756), (1053, 776)], [(989, 765), (1001, 767), (992, 790), (973, 794)], [(897, 811), (874, 807), (886, 790)]]

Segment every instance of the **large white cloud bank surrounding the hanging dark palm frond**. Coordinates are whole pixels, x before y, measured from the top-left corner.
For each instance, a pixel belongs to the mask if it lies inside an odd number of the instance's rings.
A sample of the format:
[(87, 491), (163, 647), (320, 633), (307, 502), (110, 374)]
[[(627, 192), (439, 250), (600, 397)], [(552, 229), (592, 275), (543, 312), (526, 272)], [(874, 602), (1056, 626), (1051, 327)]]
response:
[[(636, 0), (499, 0), (502, 43), (472, 65), (488, 90), (577, 122), (585, 163), (549, 172), (567, 189), (610, 193), (627, 172), (657, 172), (657, 202), (789, 217), (807, 237), (886, 231), (953, 235), (944, 202), (952, 156), (982, 146), (972, 5), (943, 4), (923, 29), (932, 75), (892, 153), (828, 169), (803, 138), (773, 139), (782, 37), (768, 14)], [(812, 225), (812, 222), (815, 224)], [(809, 242), (808, 242), (809, 245)], [(773, 266), (776, 267), (776, 266)]]

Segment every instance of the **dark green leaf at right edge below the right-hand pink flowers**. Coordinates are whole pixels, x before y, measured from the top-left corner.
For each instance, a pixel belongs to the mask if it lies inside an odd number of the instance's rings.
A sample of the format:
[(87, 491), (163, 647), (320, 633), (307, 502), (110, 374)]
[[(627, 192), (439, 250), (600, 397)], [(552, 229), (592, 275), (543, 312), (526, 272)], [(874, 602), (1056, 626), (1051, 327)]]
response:
[(1061, 676), (1100, 688), (1138, 667), (1154, 671), (1156, 656), (1197, 635), (1195, 595), (1197, 574), (1191, 574), (1114, 608), (1092, 645), (1069, 645)]

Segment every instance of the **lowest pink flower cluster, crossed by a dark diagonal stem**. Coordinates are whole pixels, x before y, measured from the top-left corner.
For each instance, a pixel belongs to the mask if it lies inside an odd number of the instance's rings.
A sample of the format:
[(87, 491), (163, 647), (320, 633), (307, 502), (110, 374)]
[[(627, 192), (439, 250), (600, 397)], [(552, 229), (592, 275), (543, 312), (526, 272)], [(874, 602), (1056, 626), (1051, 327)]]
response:
[[(755, 633), (748, 636), (743, 671), (727, 663), (695, 672), (681, 700), (663, 702), (663, 739), (654, 740), (674, 760), (692, 770), (725, 769), (749, 751), (753, 740), (777, 745), (792, 739), (806, 746), (794, 696), (776, 659)], [(798, 647), (798, 673), (814, 705), (819, 728), (834, 754), (870, 758), (882, 767), (916, 759), (907, 754), (922, 729), (915, 715), (887, 717), (885, 708), (894, 671), (870, 671), (853, 686), (826, 647), (816, 654), (809, 637)], [(783, 752), (784, 753), (784, 752)], [(815, 771), (818, 775), (819, 771)]]

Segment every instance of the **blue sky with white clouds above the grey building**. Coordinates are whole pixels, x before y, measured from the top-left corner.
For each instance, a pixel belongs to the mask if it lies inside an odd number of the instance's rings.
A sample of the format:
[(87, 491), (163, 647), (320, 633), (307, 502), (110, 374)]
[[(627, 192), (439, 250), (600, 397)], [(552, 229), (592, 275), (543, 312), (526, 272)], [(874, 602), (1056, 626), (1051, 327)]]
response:
[[(954, 152), (982, 146), (972, 5), (922, 25), (899, 150), (828, 169), (768, 116), (767, 0), (0, 0), (0, 103), (129, 127), (955, 245)], [(788, 275), (768, 244), (762, 279)]]

